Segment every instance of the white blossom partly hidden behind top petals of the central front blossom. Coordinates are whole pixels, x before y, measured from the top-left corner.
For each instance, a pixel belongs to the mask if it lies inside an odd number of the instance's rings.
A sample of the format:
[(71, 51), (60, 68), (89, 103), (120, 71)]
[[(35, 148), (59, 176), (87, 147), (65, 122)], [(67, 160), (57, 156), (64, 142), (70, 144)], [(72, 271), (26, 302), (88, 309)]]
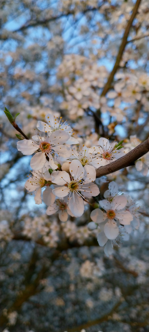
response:
[(78, 159), (83, 166), (91, 165), (95, 168), (99, 167), (99, 159), (97, 155), (92, 151), (90, 152), (90, 148), (87, 148), (85, 145), (83, 145), (81, 151), (72, 149), (71, 158)]

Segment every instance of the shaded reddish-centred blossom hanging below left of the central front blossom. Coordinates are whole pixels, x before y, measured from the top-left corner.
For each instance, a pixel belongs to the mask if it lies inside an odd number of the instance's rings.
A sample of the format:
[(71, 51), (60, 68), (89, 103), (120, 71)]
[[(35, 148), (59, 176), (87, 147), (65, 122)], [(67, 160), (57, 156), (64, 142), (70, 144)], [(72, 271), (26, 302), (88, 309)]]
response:
[(56, 212), (59, 212), (59, 219), (61, 221), (67, 221), (68, 214), (74, 216), (74, 214), (71, 212), (70, 208), (68, 207), (68, 202), (66, 202), (66, 200), (63, 198), (56, 199), (55, 203), (51, 204), (46, 210), (46, 213), (48, 215), (54, 214)]

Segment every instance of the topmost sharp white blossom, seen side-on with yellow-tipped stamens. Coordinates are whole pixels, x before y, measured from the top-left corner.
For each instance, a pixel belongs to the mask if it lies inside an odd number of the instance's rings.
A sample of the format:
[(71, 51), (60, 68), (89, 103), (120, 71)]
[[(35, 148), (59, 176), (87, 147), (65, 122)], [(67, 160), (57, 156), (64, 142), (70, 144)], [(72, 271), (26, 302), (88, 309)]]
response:
[(58, 117), (55, 117), (52, 114), (47, 114), (46, 115), (46, 121), (42, 122), (42, 121), (38, 121), (37, 123), (37, 128), (40, 131), (43, 132), (47, 132), (48, 135), (50, 135), (52, 132), (56, 131), (56, 130), (63, 130), (65, 132), (67, 132), (67, 134), (69, 134), (69, 138), (68, 140), (65, 142), (67, 144), (77, 144), (78, 140), (73, 137), (73, 129), (71, 128), (71, 126), (69, 124), (66, 124), (66, 121), (64, 122), (62, 120), (62, 117), (60, 117), (60, 119)]

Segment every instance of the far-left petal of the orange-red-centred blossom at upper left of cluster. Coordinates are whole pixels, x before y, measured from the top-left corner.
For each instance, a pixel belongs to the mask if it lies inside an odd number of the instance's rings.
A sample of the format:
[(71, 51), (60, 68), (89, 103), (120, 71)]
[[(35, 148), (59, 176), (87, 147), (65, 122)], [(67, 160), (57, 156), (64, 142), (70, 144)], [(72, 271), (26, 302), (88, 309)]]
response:
[(33, 154), (38, 148), (39, 144), (36, 144), (31, 139), (23, 139), (23, 141), (17, 142), (18, 151), (21, 151), (26, 156)]

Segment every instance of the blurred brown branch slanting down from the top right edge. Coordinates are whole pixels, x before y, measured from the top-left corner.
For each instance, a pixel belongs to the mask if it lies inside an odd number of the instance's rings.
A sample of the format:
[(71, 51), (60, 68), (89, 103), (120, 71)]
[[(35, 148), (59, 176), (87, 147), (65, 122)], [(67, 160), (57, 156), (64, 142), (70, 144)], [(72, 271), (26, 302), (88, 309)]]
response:
[(128, 21), (128, 24), (127, 24), (125, 32), (124, 32), (124, 36), (123, 36), (122, 43), (121, 43), (120, 48), (119, 48), (119, 52), (118, 52), (118, 55), (117, 55), (117, 58), (116, 58), (115, 65), (113, 67), (112, 72), (109, 75), (107, 83), (104, 86), (104, 89), (101, 93), (101, 96), (105, 96), (106, 93), (108, 92), (108, 90), (110, 89), (111, 83), (112, 83), (113, 78), (114, 78), (114, 75), (115, 75), (115, 73), (117, 72), (117, 70), (119, 68), (120, 61), (122, 59), (123, 52), (124, 52), (125, 46), (127, 44), (127, 38), (128, 38), (128, 35), (129, 35), (129, 31), (130, 31), (131, 25), (133, 23), (133, 20), (134, 20), (136, 14), (137, 14), (138, 7), (139, 7), (140, 3), (141, 3), (141, 0), (137, 0), (136, 3), (135, 3), (135, 6), (134, 6), (132, 14), (131, 14), (131, 17)]

